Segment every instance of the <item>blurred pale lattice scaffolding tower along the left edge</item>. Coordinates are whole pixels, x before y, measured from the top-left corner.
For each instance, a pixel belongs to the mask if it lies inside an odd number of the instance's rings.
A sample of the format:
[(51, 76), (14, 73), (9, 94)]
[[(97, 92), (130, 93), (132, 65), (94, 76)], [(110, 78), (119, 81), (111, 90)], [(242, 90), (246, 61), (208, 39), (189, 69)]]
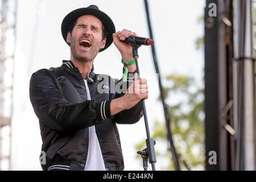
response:
[(16, 9), (18, 2), (17, 0), (2, 0), (0, 3), (0, 170), (10, 170)]

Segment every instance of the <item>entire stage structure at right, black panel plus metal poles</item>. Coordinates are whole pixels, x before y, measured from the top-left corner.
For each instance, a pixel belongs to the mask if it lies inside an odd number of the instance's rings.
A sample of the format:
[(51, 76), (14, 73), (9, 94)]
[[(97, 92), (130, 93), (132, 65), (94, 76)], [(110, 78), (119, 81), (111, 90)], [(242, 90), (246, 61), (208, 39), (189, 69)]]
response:
[[(217, 16), (209, 16), (210, 3), (217, 5)], [(207, 0), (207, 159), (209, 151), (217, 153), (217, 165), (209, 165), (206, 160), (207, 170), (255, 169), (255, 55), (251, 4), (251, 0)]]

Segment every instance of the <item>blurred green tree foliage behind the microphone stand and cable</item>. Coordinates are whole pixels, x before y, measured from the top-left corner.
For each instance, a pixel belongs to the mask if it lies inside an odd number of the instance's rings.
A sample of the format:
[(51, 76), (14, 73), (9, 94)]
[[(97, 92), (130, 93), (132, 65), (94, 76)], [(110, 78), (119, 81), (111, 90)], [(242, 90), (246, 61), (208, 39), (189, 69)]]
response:
[[(193, 78), (183, 75), (167, 76), (166, 81), (170, 85), (164, 88), (166, 98), (171, 96), (172, 101), (177, 102), (170, 106), (170, 117), (180, 167), (183, 170), (204, 169), (204, 89), (195, 86)], [(156, 140), (156, 144), (166, 145), (168, 143), (166, 136), (166, 123), (155, 121), (151, 138)], [(136, 150), (145, 147), (146, 143), (143, 141), (136, 145)], [(155, 149), (159, 159), (168, 160), (169, 165), (161, 170), (174, 170), (170, 146), (168, 151)]]

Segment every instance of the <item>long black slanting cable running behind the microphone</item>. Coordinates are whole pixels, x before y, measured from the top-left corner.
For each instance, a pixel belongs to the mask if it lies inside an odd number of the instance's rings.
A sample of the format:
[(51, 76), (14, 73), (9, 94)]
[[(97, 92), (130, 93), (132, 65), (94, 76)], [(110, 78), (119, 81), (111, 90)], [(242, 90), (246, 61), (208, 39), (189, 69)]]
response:
[[(145, 5), (145, 9), (146, 9), (146, 14), (147, 14), (147, 24), (148, 24), (148, 30), (150, 33), (150, 39), (153, 39), (147, 0), (144, 0), (144, 5)], [(171, 128), (170, 128), (169, 106), (164, 102), (164, 90), (163, 90), (161, 77), (160, 77), (160, 73), (159, 73), (158, 60), (156, 59), (155, 47), (151, 46), (151, 50), (152, 50), (152, 56), (153, 56), (153, 60), (154, 60), (154, 64), (155, 64), (155, 71), (156, 71), (156, 73), (158, 73), (158, 76), (159, 76), (158, 83), (159, 83), (159, 89), (160, 89), (160, 97), (161, 97), (163, 107), (164, 107), (164, 116), (166, 118), (166, 126), (167, 126), (167, 137), (168, 137), (168, 140), (170, 141), (172, 158), (174, 159), (174, 165), (175, 165), (176, 171), (180, 171), (179, 160), (177, 158), (177, 153), (175, 150), (174, 142), (172, 140), (172, 133), (171, 133)]]

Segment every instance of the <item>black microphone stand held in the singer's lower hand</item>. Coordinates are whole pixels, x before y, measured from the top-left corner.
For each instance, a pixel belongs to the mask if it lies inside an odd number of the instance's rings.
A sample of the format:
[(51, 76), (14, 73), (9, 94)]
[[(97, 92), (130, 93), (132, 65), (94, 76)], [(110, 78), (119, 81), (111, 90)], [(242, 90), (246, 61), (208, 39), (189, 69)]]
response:
[[(135, 59), (137, 72), (138, 72), (138, 78), (139, 78), (139, 65), (138, 65), (138, 48), (141, 46), (133, 45), (133, 58)], [(143, 168), (144, 171), (147, 171), (148, 168), (148, 160), (151, 163), (152, 171), (155, 171), (155, 163), (156, 163), (156, 156), (155, 156), (155, 140), (150, 138), (150, 131), (148, 127), (148, 121), (147, 121), (147, 112), (146, 112), (146, 106), (144, 99), (142, 100), (142, 106), (143, 106), (143, 116), (144, 116), (144, 122), (146, 127), (146, 133), (147, 133), (147, 139), (146, 139), (146, 145), (147, 147), (144, 148), (142, 151), (138, 151), (137, 154), (141, 155), (143, 160)]]

